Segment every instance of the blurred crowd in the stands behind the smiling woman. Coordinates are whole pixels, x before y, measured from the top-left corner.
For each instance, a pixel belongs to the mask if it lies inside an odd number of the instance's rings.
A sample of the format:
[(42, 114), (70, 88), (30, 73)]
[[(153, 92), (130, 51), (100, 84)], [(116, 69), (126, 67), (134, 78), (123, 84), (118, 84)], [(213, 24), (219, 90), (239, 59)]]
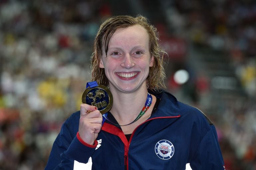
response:
[(0, 170), (44, 169), (99, 25), (136, 14), (169, 54), (167, 90), (216, 126), (226, 170), (256, 169), (256, 1), (0, 0)]

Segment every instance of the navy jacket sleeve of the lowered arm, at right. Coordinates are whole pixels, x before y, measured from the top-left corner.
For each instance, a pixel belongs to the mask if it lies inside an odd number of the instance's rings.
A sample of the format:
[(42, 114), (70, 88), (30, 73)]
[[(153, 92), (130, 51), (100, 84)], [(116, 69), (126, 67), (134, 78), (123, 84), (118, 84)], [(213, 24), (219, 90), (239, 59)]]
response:
[(190, 161), (192, 170), (225, 170), (216, 129), (213, 125), (209, 125), (197, 147), (192, 150), (193, 157)]

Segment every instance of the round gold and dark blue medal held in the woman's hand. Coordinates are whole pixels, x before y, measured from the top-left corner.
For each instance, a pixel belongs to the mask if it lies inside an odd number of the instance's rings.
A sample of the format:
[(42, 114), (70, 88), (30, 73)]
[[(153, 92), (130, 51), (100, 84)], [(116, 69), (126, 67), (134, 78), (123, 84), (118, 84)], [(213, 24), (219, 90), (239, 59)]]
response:
[(102, 85), (86, 88), (82, 95), (82, 103), (98, 108), (101, 114), (110, 110), (113, 105), (113, 96), (110, 90)]

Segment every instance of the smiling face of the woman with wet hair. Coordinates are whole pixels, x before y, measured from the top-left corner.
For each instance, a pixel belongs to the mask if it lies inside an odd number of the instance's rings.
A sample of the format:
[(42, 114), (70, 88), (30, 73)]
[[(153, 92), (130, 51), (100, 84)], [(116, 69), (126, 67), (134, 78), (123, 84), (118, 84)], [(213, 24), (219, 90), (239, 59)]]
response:
[(101, 56), (99, 67), (105, 69), (111, 91), (130, 93), (147, 88), (146, 79), (153, 63), (148, 33), (142, 26), (134, 25), (112, 35), (107, 57)]

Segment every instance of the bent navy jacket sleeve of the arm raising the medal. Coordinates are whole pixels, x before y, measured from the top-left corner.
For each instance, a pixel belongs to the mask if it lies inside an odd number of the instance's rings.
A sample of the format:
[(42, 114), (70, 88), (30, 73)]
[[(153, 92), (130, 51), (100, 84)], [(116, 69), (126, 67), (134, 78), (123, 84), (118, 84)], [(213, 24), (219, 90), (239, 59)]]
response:
[(95, 141), (94, 145), (83, 142), (77, 132), (78, 123), (73, 122), (74, 117), (71, 116), (62, 125), (61, 131), (53, 143), (45, 170), (73, 169), (74, 160), (87, 163), (95, 151), (97, 142)]

